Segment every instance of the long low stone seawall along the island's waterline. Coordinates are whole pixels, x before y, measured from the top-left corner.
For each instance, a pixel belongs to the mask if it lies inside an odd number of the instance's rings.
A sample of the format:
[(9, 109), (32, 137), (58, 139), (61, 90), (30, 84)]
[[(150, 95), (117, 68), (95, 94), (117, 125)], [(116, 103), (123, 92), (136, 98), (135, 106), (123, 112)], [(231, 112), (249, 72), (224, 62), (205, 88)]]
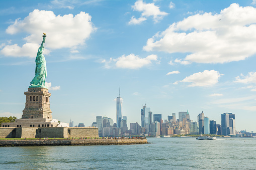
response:
[(145, 144), (147, 139), (0, 140), (0, 146)]

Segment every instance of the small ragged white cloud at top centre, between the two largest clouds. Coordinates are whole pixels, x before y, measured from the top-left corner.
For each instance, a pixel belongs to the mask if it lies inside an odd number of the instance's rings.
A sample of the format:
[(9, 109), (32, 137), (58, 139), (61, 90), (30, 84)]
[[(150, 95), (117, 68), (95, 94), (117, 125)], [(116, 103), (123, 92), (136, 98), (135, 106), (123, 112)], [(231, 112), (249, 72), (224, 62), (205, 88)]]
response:
[(159, 10), (159, 7), (155, 6), (154, 3), (146, 4), (142, 0), (138, 0), (137, 2), (135, 2), (134, 5), (132, 6), (132, 9), (133, 11), (138, 11), (142, 13), (139, 19), (136, 19), (133, 16), (129, 24), (140, 24), (149, 17), (152, 17), (154, 22), (157, 23), (159, 20), (162, 20), (164, 16), (168, 15), (168, 13), (161, 12)]

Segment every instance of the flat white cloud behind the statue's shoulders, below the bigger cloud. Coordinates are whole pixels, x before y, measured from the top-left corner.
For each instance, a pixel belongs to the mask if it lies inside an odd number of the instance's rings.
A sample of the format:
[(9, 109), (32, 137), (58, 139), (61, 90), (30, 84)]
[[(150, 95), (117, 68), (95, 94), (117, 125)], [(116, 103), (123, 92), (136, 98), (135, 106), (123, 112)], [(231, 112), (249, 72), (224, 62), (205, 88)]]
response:
[[(19, 47), (18, 44), (7, 45), (2, 50), (1, 53), (5, 56), (10, 57), (31, 57), (36, 58), (37, 50), (40, 46), (35, 43), (26, 43), (22, 47)], [(44, 55), (49, 54), (50, 51), (44, 49)]]

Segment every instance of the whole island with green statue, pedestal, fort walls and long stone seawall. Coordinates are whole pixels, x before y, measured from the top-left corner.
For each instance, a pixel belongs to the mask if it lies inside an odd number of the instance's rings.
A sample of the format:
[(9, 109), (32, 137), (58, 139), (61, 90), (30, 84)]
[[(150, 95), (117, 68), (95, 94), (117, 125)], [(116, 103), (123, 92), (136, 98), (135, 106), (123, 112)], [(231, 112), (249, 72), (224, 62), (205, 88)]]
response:
[[(43, 33), (43, 41), (35, 60), (35, 76), (30, 82), (28, 91), (24, 92), (26, 104), (22, 118), (16, 119), (15, 122), (2, 123), (2, 127), (0, 127), (0, 138), (25, 138), (25, 140), (2, 140), (0, 146), (147, 143), (145, 137), (99, 138), (98, 127), (69, 127), (68, 123), (59, 122), (52, 118), (50, 109), (51, 93), (48, 92), (48, 88), (45, 86), (47, 77), (46, 60), (43, 55), (45, 39), (46, 33)], [(55, 140), (55, 137), (62, 139)], [(40, 140), (26, 140), (26, 138), (38, 138)], [(53, 138), (54, 140), (41, 140), (42, 138)]]

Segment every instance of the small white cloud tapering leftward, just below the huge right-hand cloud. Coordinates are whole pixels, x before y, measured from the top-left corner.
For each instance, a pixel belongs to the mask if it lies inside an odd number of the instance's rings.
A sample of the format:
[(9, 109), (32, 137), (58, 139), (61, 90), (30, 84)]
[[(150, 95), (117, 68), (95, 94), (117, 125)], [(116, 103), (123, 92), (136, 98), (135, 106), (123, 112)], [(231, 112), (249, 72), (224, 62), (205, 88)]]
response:
[(222, 75), (223, 74), (220, 74), (218, 71), (215, 70), (205, 70), (203, 72), (194, 73), (186, 77), (185, 79), (181, 80), (180, 82), (190, 82), (191, 84), (188, 85), (189, 87), (212, 86), (218, 83), (218, 79)]

